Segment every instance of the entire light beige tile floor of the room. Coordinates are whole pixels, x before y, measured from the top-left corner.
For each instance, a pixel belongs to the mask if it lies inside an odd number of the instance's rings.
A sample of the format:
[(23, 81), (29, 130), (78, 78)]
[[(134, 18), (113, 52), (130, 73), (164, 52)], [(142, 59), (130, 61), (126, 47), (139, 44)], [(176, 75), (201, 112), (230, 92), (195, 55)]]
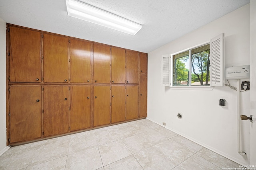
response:
[(221, 170), (239, 165), (142, 119), (11, 147), (0, 170)]

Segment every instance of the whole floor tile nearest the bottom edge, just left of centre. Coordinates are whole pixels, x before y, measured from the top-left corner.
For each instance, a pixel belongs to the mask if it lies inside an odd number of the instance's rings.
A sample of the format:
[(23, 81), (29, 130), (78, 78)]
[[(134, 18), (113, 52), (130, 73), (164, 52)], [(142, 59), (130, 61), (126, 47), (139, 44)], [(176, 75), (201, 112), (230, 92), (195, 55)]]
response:
[(104, 166), (131, 155), (121, 140), (101, 145), (99, 150)]

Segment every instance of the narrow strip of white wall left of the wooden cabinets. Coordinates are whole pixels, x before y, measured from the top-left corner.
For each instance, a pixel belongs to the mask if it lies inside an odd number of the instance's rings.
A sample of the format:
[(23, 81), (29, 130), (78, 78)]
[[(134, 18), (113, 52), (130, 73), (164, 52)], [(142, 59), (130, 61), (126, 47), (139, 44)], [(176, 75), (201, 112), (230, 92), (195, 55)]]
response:
[(0, 18), (0, 154), (6, 149), (6, 22)]

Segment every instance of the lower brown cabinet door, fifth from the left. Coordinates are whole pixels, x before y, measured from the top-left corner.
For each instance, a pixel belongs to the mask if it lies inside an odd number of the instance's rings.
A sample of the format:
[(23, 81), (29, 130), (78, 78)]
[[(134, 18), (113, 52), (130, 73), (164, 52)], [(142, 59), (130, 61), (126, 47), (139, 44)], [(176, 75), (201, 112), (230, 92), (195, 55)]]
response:
[(111, 121), (125, 121), (125, 86), (111, 87)]

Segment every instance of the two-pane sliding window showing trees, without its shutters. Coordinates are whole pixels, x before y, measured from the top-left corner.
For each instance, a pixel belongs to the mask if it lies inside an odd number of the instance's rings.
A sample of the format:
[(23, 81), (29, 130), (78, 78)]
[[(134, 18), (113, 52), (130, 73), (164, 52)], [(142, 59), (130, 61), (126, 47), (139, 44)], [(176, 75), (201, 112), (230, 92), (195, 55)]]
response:
[(210, 85), (210, 44), (172, 55), (173, 86)]

